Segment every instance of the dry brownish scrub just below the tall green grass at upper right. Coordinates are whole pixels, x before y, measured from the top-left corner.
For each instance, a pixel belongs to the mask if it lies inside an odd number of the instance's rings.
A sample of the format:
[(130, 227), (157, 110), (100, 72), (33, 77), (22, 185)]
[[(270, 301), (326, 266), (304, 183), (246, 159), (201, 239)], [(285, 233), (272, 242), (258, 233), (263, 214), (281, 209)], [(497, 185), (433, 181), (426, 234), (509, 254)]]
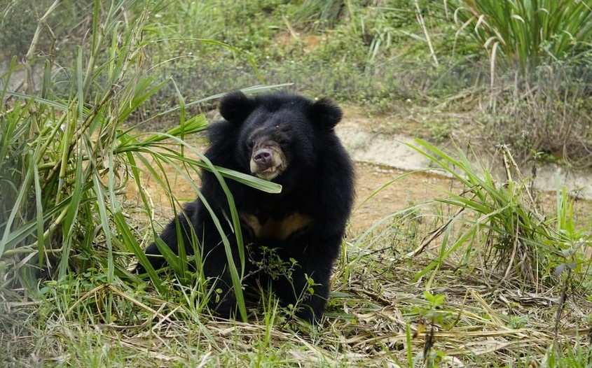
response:
[(495, 113), (481, 114), (486, 132), (511, 147), (518, 160), (558, 162), (589, 168), (592, 148), (587, 72), (556, 65), (539, 69), (535, 85), (509, 82), (496, 87)]

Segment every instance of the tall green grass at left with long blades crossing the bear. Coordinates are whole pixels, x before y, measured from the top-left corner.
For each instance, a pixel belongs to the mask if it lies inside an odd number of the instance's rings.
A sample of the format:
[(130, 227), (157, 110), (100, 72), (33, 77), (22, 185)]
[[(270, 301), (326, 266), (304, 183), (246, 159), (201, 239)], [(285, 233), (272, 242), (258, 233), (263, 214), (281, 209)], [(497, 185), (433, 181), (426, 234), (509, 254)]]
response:
[[(46, 16), (57, 6), (54, 3)], [(64, 281), (71, 272), (89, 271), (104, 275), (105, 283), (118, 288), (126, 288), (121, 283), (124, 280), (139, 283), (137, 276), (128, 272), (130, 256), (148, 262), (123, 194), (128, 185), (136, 185), (146, 218), (153, 218), (151, 201), (142, 189), (149, 177), (170, 194), (172, 208), (181, 211), (181, 204), (172, 197), (173, 183), (172, 178), (167, 178), (167, 168), (190, 183), (196, 195), (200, 195), (195, 185), (198, 169), (213, 171), (231, 208), (233, 199), (225, 184), (228, 179), (268, 192), (280, 190), (273, 183), (214, 167), (187, 143), (192, 134), (207, 127), (204, 115), (186, 115), (187, 106), (222, 94), (191, 102), (177, 94), (177, 106), (159, 117), (166, 118), (167, 113), (179, 116), (165, 133), (145, 133), (125, 124), (160, 88), (174, 83), (166, 78), (156, 80), (146, 73), (146, 55), (158, 43), (158, 34), (152, 32), (155, 27), (150, 22), (149, 6), (144, 1), (95, 0), (89, 43), (76, 49), (71, 67), (62, 66), (71, 78), (65, 98), (62, 86), (60, 93), (55, 91), (56, 66), (50, 58), (45, 60), (39, 91), (8, 90), (8, 82), (19, 67), (15, 58), (0, 76), (4, 85), (0, 100), (12, 101), (8, 107), (0, 107), (0, 262), (6, 270), (0, 290), (10, 293), (25, 286), (29, 292), (39, 293), (39, 277)], [(39, 52), (35, 40), (44, 29), (37, 28), (28, 55)], [(32, 59), (28, 58), (27, 63)], [(31, 65), (22, 67), (30, 69)], [(136, 127), (149, 120), (151, 117)], [(230, 239), (223, 234), (228, 260), (233, 259), (232, 252), (238, 251), (244, 264), (236, 211), (232, 211), (231, 220), (237, 229), (232, 236), (239, 247), (231, 248)], [(151, 229), (149, 238), (154, 238), (160, 230), (153, 225)], [(190, 283), (186, 271), (191, 260), (184, 254), (178, 257), (170, 251), (163, 253), (179, 280)], [(241, 316), (246, 318), (241, 297), (242, 264), (230, 262), (230, 270)], [(156, 290), (167, 295), (169, 291), (160, 275), (151, 267), (148, 274)], [(200, 292), (203, 296), (208, 290)], [(112, 305), (112, 298), (106, 305)], [(112, 319), (110, 313), (107, 308), (106, 320)]]

